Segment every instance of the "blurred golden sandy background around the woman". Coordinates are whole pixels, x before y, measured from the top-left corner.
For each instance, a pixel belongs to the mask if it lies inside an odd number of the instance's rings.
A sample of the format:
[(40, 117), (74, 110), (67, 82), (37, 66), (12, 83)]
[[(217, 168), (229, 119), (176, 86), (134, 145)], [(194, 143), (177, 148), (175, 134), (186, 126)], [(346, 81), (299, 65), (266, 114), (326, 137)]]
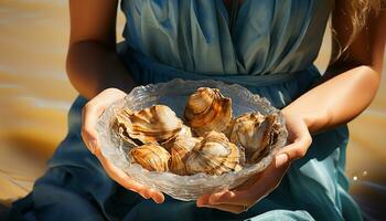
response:
[[(125, 23), (118, 17), (118, 40)], [(66, 0), (0, 1), (0, 204), (31, 191), (66, 134), (77, 93), (65, 73), (69, 19)], [(330, 30), (315, 62), (330, 56)], [(386, 56), (384, 59), (386, 64)], [(384, 65), (384, 74), (386, 74)], [(355, 102), (355, 101), (353, 101)], [(368, 219), (385, 217), (386, 80), (360, 117), (350, 123), (346, 172), (351, 193)]]

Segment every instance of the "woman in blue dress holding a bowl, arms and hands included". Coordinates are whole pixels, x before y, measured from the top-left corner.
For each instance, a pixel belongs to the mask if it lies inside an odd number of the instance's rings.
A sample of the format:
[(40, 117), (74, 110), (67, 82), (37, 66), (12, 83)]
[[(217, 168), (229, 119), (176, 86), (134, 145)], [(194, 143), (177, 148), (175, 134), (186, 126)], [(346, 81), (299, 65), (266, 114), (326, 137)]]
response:
[[(376, 13), (378, 1), (122, 0), (121, 8), (126, 40), (117, 50), (117, 1), (69, 1), (67, 73), (81, 96), (50, 169), (14, 203), (12, 218), (362, 219), (344, 175), (345, 123), (366, 108), (379, 83), (386, 17)], [(330, 13), (343, 45), (334, 51), (343, 53), (321, 76), (312, 62)], [(218, 76), (282, 110), (290, 144), (267, 170), (234, 190), (181, 202), (103, 157), (95, 123), (133, 86)]]

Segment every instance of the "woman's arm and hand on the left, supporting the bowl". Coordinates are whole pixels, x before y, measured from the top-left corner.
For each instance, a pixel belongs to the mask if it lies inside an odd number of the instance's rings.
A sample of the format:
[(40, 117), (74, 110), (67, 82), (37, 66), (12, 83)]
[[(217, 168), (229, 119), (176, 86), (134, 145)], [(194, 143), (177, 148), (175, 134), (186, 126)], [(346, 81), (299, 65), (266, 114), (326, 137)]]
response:
[[(135, 83), (116, 53), (118, 0), (71, 0), (71, 38), (67, 74), (81, 95), (90, 99), (82, 113), (82, 138), (107, 175), (143, 198), (160, 203), (161, 192), (132, 180), (101, 154), (95, 129), (98, 117), (112, 102), (126, 96)], [(112, 88), (108, 88), (112, 87)]]

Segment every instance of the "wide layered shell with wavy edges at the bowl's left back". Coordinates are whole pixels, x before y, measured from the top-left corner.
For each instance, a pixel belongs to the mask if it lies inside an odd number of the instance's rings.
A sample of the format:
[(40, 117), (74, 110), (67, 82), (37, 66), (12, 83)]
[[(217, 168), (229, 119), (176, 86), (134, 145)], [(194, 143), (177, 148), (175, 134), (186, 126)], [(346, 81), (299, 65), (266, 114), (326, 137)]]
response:
[(182, 122), (168, 106), (153, 105), (139, 112), (124, 108), (116, 116), (116, 126), (124, 140), (131, 146), (141, 146), (173, 139), (181, 131)]

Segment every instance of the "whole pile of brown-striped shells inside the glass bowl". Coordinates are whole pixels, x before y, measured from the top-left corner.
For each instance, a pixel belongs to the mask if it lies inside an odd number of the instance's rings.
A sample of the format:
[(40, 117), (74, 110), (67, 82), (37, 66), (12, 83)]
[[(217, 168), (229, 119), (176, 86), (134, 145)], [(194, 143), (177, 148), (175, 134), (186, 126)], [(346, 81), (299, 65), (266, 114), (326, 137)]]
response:
[(115, 128), (131, 161), (149, 171), (218, 176), (265, 157), (278, 139), (277, 117), (256, 112), (233, 118), (230, 98), (200, 87), (187, 98), (183, 119), (165, 105), (124, 108)]

